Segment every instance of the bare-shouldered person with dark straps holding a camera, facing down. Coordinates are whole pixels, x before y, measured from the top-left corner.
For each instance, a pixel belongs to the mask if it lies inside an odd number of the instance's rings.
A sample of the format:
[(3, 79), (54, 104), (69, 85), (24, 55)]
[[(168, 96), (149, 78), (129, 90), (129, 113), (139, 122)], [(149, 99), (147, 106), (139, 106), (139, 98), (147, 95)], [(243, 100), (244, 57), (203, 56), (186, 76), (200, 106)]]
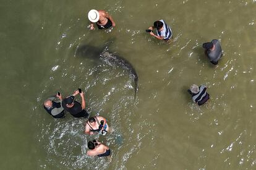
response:
[(90, 117), (85, 123), (85, 134), (93, 135), (95, 132), (99, 132), (102, 135), (106, 135), (106, 132), (109, 132), (109, 127), (104, 117)]

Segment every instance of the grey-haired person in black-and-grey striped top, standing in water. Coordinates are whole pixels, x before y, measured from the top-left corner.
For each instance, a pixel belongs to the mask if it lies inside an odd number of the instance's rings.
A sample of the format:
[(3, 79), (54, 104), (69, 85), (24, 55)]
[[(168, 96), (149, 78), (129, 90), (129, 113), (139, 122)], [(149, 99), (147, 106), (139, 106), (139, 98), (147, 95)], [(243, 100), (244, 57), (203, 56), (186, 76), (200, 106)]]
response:
[(200, 85), (200, 87), (197, 85), (191, 85), (190, 89), (187, 91), (192, 95), (192, 100), (200, 106), (210, 98), (210, 95), (206, 90), (207, 87), (205, 85)]

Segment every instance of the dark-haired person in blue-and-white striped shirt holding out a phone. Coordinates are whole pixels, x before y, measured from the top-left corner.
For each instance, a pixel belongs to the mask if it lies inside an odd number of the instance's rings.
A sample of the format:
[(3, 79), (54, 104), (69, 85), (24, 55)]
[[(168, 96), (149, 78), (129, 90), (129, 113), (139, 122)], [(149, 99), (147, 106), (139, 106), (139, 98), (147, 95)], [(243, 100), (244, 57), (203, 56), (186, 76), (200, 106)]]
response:
[[(156, 28), (156, 35), (153, 33), (153, 29)], [(154, 26), (149, 27), (148, 30), (151, 30), (150, 35), (155, 36), (155, 38), (159, 40), (168, 41), (173, 36), (173, 32), (171, 31), (171, 27), (167, 25), (164, 20), (157, 20), (154, 22)]]

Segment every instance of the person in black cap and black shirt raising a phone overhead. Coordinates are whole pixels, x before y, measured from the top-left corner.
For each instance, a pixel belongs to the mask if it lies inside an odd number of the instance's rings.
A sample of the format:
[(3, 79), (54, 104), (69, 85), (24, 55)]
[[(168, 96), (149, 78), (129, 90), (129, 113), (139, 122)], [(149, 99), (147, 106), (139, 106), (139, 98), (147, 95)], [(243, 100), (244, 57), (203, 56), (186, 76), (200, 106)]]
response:
[[(81, 93), (79, 93), (79, 91), (81, 91)], [(82, 99), (82, 105), (78, 102), (75, 101), (75, 96), (80, 94), (81, 99)], [(74, 94), (71, 96), (67, 96), (67, 98), (65, 98), (64, 100), (62, 100), (62, 107), (69, 112), (70, 114), (72, 114), (72, 116), (74, 117), (88, 117), (88, 113), (85, 110), (85, 97), (83, 95), (83, 91), (82, 90), (75, 90)]]

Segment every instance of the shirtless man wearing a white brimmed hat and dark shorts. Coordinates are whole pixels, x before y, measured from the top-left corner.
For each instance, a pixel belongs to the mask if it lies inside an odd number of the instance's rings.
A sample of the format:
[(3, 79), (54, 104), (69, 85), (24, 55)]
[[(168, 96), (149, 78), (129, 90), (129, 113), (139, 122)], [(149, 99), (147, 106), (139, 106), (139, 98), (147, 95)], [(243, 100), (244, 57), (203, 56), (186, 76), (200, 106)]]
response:
[(90, 30), (94, 30), (93, 23), (96, 23), (99, 29), (116, 26), (116, 23), (114, 23), (114, 20), (111, 17), (111, 15), (109, 15), (108, 12), (103, 10), (97, 11), (95, 9), (92, 9), (88, 12), (88, 19), (90, 20), (90, 22), (92, 22), (90, 24)]

